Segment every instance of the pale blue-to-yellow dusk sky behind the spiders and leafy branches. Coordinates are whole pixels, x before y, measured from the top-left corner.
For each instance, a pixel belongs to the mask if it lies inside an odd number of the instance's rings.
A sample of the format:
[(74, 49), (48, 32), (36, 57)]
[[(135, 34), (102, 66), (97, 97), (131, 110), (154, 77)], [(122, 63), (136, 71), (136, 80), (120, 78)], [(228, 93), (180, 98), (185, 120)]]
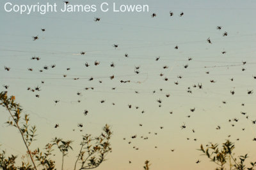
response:
[[(85, 133), (97, 136), (102, 127), (109, 124), (113, 131), (113, 152), (99, 170), (143, 169), (145, 160), (152, 163), (150, 169), (214, 169), (215, 164), (196, 149), (201, 144), (223, 143), (226, 139), (236, 143), (237, 155), (248, 153), (250, 160), (256, 159), (253, 152), (256, 143), (252, 141), (256, 137), (252, 124), (252, 120), (256, 120), (256, 93), (248, 94), (248, 90), (256, 92), (253, 78), (256, 76), (255, 1), (108, 1), (117, 5), (147, 4), (149, 11), (104, 13), (98, 10), (45, 15), (7, 13), (4, 4), (8, 2), (43, 4), (48, 1), (0, 2), (0, 88), (4, 91), (2, 85), (9, 85), (10, 95), (14, 95), (24, 113), (30, 115), (31, 124), (36, 124), (37, 141), (31, 148), (43, 148), (54, 137), (71, 139), (75, 141), (74, 150), (66, 157), (64, 166), (74, 169), (81, 136)], [(54, 2), (63, 5), (63, 1)], [(69, 1), (97, 6), (104, 2)], [(151, 17), (152, 13), (156, 13), (156, 17)], [(95, 22), (95, 17), (100, 21)], [(216, 29), (217, 26), (221, 26), (221, 30)], [(223, 32), (228, 35), (223, 36)], [(33, 41), (32, 36), (39, 39)], [(129, 57), (125, 57), (125, 53)], [(31, 60), (33, 56), (40, 60)], [(159, 60), (156, 61), (156, 57), (160, 57)], [(95, 60), (100, 62), (98, 66), (94, 66)], [(86, 62), (89, 67), (84, 66)], [(111, 62), (115, 67), (110, 67)], [(43, 69), (52, 64), (56, 67)], [(184, 68), (186, 64), (188, 67)], [(4, 70), (4, 66), (10, 67), (10, 71)], [(134, 73), (136, 66), (140, 66), (139, 74)], [(40, 73), (40, 69), (44, 71)], [(159, 76), (161, 73), (164, 75)], [(115, 78), (110, 80), (112, 75)], [(93, 81), (88, 81), (90, 77)], [(120, 80), (131, 82), (120, 83)], [(198, 83), (202, 83), (202, 89), (193, 87)], [(36, 86), (42, 89), (37, 93), (39, 98), (35, 92), (26, 90)], [(94, 89), (84, 90), (86, 87)], [(192, 93), (187, 92), (188, 87)], [(230, 94), (230, 90), (235, 94)], [(81, 92), (81, 96), (77, 96), (77, 92)], [(158, 99), (162, 101), (161, 107)], [(55, 100), (60, 102), (56, 104)], [(101, 100), (105, 103), (100, 103)], [(195, 111), (191, 112), (191, 108)], [(84, 110), (89, 111), (88, 115), (83, 115)], [(241, 111), (246, 112), (248, 119)], [(0, 113), (1, 148), (7, 153), (22, 155), (26, 148), (19, 133), (4, 124), (9, 118), (6, 110), (0, 108)], [(234, 118), (239, 121), (234, 122)], [(79, 123), (83, 124), (82, 132), (77, 127)], [(60, 127), (55, 129), (55, 124)], [(186, 129), (180, 128), (183, 124)], [(218, 125), (220, 130), (216, 130)], [(135, 134), (138, 137), (131, 139)], [(56, 153), (54, 159), (60, 169), (60, 154)], [(198, 159), (201, 162), (196, 164)]]

